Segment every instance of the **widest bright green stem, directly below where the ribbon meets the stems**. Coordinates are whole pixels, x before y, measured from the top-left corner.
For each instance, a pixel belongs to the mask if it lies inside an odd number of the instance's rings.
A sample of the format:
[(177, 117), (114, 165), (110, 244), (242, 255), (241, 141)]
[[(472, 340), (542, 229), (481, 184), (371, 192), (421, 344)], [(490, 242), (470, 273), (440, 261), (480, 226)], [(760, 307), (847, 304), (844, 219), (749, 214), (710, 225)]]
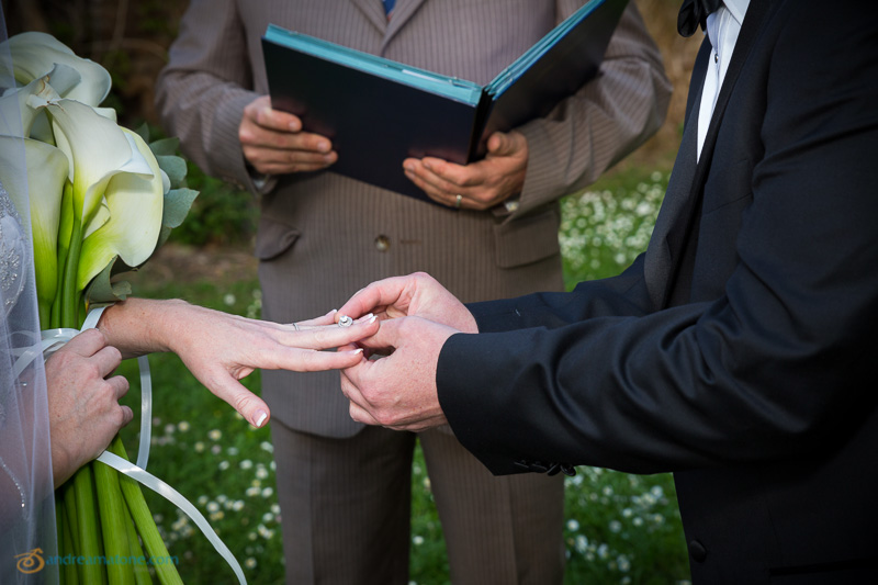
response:
[(130, 561), (128, 530), (125, 526), (125, 500), (119, 487), (119, 473), (105, 463), (95, 461), (94, 486), (98, 490), (98, 506), (101, 510), (103, 550), (106, 556), (106, 576), (110, 585), (134, 585), (134, 569), (131, 562), (115, 563), (115, 559)]

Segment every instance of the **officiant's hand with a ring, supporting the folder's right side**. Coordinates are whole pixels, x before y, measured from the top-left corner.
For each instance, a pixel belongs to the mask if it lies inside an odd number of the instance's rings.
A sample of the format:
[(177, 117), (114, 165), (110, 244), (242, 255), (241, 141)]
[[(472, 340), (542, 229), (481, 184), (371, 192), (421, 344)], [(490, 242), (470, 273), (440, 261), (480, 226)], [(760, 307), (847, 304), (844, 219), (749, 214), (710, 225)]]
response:
[[(430, 199), (451, 207), (487, 210), (517, 195), (525, 187), (528, 140), (519, 132), (495, 132), (484, 159), (455, 165), (441, 158), (407, 158), (405, 176)], [(460, 199), (458, 199), (460, 198)]]

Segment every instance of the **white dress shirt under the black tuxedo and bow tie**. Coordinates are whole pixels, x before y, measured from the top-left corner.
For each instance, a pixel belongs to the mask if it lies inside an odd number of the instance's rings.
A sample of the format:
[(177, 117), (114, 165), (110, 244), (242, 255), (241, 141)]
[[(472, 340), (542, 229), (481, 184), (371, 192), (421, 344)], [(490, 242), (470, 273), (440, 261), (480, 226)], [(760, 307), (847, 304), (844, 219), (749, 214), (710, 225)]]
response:
[(744, 22), (750, 0), (724, 0), (723, 4), (707, 18), (707, 35), (713, 46), (713, 56), (707, 67), (705, 89), (701, 92), (701, 108), (698, 111), (698, 155), (696, 160), (701, 158), (701, 147), (705, 145), (713, 108), (717, 105), (717, 95), (722, 87), (722, 80), (725, 79), (725, 71), (729, 70), (729, 61), (732, 60), (732, 52), (738, 42), (738, 34), (741, 32), (741, 23)]

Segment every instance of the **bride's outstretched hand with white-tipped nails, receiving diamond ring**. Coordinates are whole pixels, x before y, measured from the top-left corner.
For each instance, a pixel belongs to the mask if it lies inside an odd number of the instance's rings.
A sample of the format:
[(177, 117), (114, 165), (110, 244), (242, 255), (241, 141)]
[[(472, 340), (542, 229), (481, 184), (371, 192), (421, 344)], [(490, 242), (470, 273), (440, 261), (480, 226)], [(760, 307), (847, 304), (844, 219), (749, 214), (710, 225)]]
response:
[(376, 319), (334, 325), (334, 313), (299, 324), (248, 319), (183, 301), (130, 299), (110, 307), (100, 327), (112, 345), (132, 357), (173, 351), (192, 374), (251, 425), (261, 427), (268, 405), (240, 382), (257, 368), (311, 372), (349, 368), (363, 360), (350, 346), (378, 331)]

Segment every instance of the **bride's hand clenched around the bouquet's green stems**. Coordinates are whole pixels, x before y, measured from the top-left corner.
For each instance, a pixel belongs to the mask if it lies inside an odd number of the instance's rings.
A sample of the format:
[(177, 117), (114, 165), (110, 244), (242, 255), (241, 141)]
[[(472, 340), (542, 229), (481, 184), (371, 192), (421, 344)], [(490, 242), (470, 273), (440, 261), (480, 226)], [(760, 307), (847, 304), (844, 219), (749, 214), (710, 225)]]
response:
[(134, 414), (119, 400), (128, 381), (111, 376), (122, 356), (100, 331), (86, 330), (46, 361), (46, 392), (55, 487), (106, 449)]

